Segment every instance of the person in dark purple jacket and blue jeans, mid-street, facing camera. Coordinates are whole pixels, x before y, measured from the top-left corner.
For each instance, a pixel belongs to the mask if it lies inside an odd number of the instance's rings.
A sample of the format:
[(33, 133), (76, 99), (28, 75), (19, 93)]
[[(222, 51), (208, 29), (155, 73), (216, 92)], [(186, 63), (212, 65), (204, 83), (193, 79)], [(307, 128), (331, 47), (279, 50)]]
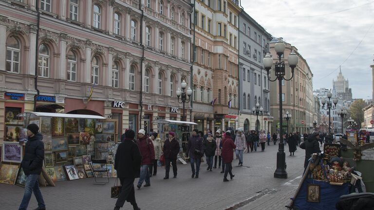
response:
[[(199, 130), (193, 129), (192, 137), (189, 138), (187, 144), (187, 154), (189, 162), (191, 163), (192, 178), (199, 178), (201, 157), (204, 154), (203, 138), (199, 136)], [(196, 176), (195, 176), (195, 162), (196, 162)]]

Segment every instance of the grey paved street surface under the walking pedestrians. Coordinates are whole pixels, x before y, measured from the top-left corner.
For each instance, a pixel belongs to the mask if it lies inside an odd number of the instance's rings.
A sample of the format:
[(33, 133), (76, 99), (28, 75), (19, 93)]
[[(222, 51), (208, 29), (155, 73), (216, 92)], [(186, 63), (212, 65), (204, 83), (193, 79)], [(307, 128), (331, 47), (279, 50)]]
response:
[[(295, 156), (289, 156), (285, 146), (288, 178), (279, 179), (273, 177), (277, 151), (278, 145), (270, 145), (265, 152), (244, 153), (243, 167), (237, 167), (234, 159), (235, 177), (229, 182), (223, 182), (221, 169), (206, 171), (205, 162), (198, 179), (191, 178), (189, 163), (178, 164), (178, 177), (168, 180), (163, 179), (164, 168), (158, 167), (151, 186), (135, 190), (138, 205), (142, 210), (285, 210), (298, 187), (305, 152), (298, 147)], [(93, 185), (89, 178), (56, 182), (56, 187), (41, 191), (48, 210), (112, 210), (116, 201), (110, 198), (113, 183), (114, 178), (109, 184)], [(22, 196), (23, 188), (0, 184), (0, 209), (18, 209)], [(29, 209), (36, 207), (32, 196)], [(123, 209), (132, 207), (125, 203)]]

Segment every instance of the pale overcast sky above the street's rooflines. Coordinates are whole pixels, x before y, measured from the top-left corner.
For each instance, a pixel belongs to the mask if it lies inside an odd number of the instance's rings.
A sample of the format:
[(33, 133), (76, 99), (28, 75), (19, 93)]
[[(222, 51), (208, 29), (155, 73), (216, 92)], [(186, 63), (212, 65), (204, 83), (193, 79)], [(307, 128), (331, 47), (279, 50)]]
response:
[(341, 65), (353, 98), (372, 98), (374, 0), (242, 0), (242, 6), (298, 49), (313, 73), (313, 89), (331, 88)]

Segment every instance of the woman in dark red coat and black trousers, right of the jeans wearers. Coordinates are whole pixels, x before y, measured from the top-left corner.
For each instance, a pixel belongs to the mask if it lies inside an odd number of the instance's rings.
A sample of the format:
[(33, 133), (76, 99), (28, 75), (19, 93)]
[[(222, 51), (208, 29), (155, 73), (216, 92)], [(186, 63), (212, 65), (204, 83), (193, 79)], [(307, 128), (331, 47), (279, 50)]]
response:
[[(230, 131), (228, 131), (230, 132)], [(234, 159), (234, 152), (233, 150), (236, 148), (234, 142), (229, 137), (230, 135), (226, 133), (224, 140), (222, 140), (222, 160), (224, 162), (224, 182), (228, 181), (227, 173), (230, 174), (230, 179), (232, 179), (235, 175), (232, 174), (232, 166), (231, 162)]]

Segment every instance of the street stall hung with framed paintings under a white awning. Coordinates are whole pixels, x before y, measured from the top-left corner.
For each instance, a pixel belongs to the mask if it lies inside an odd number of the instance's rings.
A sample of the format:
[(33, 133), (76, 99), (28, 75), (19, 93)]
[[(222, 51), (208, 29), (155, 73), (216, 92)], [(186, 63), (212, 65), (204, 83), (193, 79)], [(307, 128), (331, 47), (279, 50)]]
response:
[[(6, 127), (2, 145), (0, 183), (24, 186), (26, 176), (19, 165), (27, 141), (26, 126), (36, 123), (44, 142), (42, 175), (49, 185), (56, 181), (93, 177), (92, 158), (107, 159), (109, 176), (116, 177), (113, 166), (118, 146), (117, 121), (96, 115), (24, 112), (17, 125)], [(102, 176), (104, 174), (96, 174)], [(106, 175), (106, 173), (105, 173)]]

